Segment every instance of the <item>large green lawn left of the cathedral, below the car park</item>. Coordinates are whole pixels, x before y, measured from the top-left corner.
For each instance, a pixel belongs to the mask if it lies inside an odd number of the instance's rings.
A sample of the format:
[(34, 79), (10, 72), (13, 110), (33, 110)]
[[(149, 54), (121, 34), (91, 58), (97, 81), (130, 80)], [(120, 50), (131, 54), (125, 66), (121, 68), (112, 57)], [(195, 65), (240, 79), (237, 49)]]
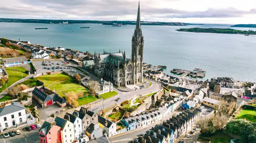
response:
[(90, 92), (83, 86), (77, 84), (70, 76), (65, 74), (38, 76), (37, 79), (44, 82), (44, 86), (47, 88), (55, 90), (61, 97), (67, 95), (70, 91), (82, 93), (84, 97), (77, 100), (79, 102), (79, 106), (97, 100), (97, 98), (93, 96), (85, 96), (90, 94)]

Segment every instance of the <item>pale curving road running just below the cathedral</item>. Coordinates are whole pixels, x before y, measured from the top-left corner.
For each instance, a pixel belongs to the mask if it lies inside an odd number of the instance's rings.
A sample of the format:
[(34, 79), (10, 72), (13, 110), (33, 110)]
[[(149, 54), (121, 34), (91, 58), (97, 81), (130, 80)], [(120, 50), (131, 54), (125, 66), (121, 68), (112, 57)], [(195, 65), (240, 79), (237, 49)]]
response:
[(159, 90), (159, 84), (152, 81), (152, 85), (149, 86), (148, 88), (145, 88), (145, 89), (138, 89), (136, 91), (130, 91), (130, 92), (123, 92), (123, 91), (119, 91), (117, 89), (114, 89), (116, 92), (118, 92), (118, 95), (115, 96), (117, 99), (118, 97), (120, 98), (119, 101), (115, 101), (115, 99), (107, 99), (107, 101), (105, 100), (104, 103), (102, 104), (99, 104), (99, 105), (96, 105), (96, 106), (92, 106), (91, 107), (91, 111), (94, 111), (94, 112), (98, 112), (100, 111), (103, 107), (106, 108), (108, 106), (111, 106), (115, 103), (120, 103), (120, 102), (123, 102), (127, 99), (129, 99), (130, 97), (134, 96), (134, 95), (137, 95), (137, 94), (149, 94), (149, 93), (153, 93), (153, 92), (156, 92)]

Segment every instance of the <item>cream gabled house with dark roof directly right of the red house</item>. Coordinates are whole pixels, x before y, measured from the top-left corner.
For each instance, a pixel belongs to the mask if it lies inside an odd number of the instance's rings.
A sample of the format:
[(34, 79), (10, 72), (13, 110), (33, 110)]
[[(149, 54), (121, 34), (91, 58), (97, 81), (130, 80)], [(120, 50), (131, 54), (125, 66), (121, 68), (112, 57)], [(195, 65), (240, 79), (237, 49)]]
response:
[(74, 141), (74, 125), (64, 118), (56, 117), (56, 126), (61, 127), (61, 143), (72, 143)]

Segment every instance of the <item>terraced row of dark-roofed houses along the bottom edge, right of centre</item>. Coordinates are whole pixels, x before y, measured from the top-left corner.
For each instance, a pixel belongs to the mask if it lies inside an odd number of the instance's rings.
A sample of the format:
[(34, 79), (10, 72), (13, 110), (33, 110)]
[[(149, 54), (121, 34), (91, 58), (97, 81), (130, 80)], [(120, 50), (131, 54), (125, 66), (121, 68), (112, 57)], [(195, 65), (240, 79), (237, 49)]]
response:
[(192, 130), (200, 114), (201, 110), (198, 108), (183, 111), (162, 124), (152, 127), (143, 137), (139, 137), (133, 143), (173, 143), (183, 133)]

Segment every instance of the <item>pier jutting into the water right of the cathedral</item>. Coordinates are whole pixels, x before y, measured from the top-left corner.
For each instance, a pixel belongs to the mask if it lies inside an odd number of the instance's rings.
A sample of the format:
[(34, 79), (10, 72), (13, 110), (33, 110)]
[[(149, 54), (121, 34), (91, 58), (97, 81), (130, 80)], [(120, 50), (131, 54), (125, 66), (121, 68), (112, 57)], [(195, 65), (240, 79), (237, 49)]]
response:
[(176, 69), (176, 68), (172, 69), (171, 73), (180, 75), (179, 78), (184, 78), (185, 76), (191, 76), (191, 77), (194, 77), (194, 78), (197, 78), (197, 77), (203, 78), (203, 77), (205, 77), (205, 73), (202, 73), (202, 72), (194, 72), (194, 71), (188, 71), (188, 70)]

